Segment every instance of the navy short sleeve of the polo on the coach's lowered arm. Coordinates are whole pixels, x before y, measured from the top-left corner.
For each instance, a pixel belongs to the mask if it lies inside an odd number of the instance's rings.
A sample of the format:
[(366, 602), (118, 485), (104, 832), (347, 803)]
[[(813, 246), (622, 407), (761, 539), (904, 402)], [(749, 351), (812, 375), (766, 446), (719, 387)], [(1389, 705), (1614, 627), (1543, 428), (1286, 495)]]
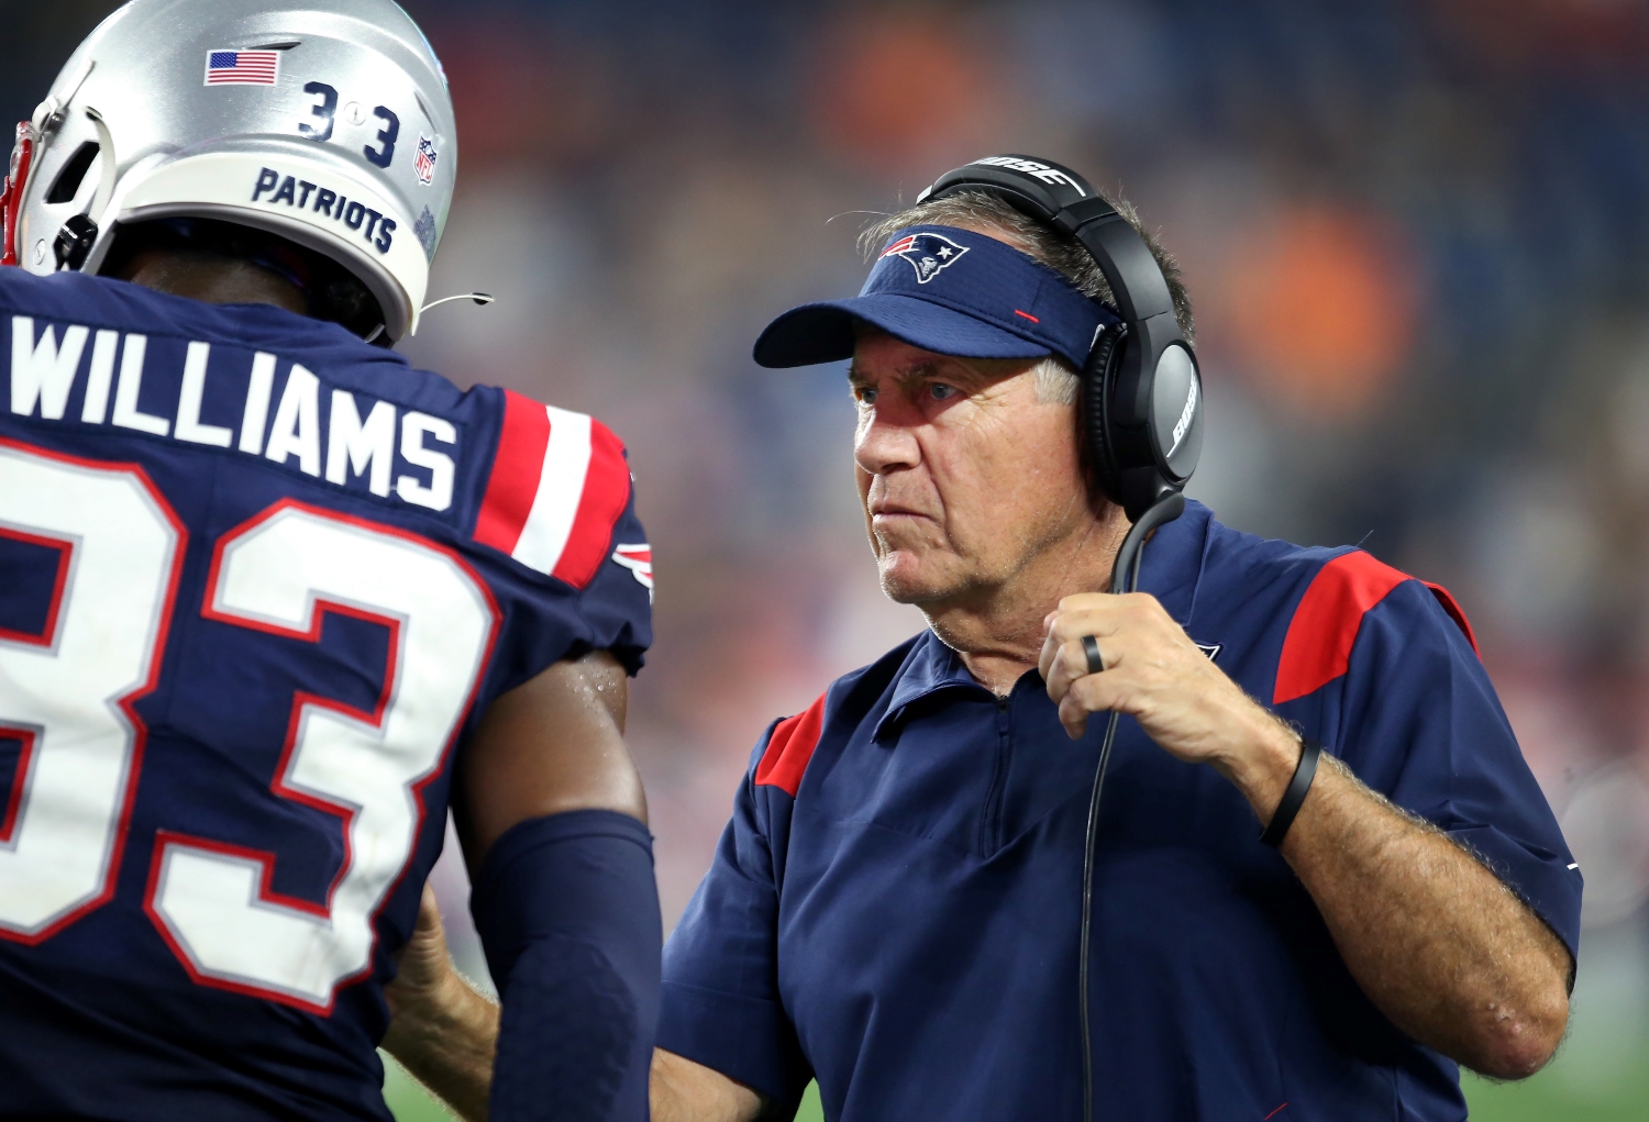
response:
[(788, 825), (790, 796), (754, 778), (770, 735), (750, 760), (709, 873), (665, 944), (658, 1046), (795, 1104), (813, 1073), (778, 992), (770, 839)]

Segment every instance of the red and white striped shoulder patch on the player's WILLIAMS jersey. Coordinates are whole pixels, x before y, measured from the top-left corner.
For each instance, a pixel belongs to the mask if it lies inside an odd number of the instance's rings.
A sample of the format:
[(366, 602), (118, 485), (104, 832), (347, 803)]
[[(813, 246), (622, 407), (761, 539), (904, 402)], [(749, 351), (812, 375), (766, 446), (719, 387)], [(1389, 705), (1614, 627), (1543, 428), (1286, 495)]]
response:
[(607, 425), (505, 390), (477, 542), (584, 588), (607, 560), (628, 504), (630, 465)]

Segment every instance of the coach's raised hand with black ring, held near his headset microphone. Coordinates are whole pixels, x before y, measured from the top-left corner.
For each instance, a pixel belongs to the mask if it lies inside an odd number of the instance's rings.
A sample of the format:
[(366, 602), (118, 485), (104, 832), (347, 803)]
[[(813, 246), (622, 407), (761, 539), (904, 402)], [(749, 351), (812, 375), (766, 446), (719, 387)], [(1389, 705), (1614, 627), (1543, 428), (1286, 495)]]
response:
[[(1281, 769), (1286, 786), (1299, 756), (1293, 732), (1214, 666), (1156, 596), (1065, 596), (1044, 628), (1042, 680), (1072, 740), (1087, 730), (1090, 713), (1118, 710), (1187, 763), (1209, 763), (1232, 778)], [(1088, 672), (1082, 646), (1090, 634), (1105, 664), (1098, 674)]]

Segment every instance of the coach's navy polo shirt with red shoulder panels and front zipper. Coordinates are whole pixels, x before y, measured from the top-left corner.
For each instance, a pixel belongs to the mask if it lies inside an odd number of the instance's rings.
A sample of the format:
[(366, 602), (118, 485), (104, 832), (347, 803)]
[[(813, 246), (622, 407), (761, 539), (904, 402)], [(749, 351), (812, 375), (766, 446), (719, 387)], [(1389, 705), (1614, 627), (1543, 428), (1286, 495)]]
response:
[[(1575, 951), (1581, 880), (1441, 588), (1207, 507), (1141, 588), (1250, 695), (1468, 844)], [(834, 1122), (1075, 1119), (1077, 937), (1103, 720), (1065, 736), (923, 633), (768, 728), (665, 947), (660, 1046)], [(1466, 1117), (1458, 1068), (1352, 980), (1212, 768), (1118, 730), (1095, 872), (1102, 1117)]]

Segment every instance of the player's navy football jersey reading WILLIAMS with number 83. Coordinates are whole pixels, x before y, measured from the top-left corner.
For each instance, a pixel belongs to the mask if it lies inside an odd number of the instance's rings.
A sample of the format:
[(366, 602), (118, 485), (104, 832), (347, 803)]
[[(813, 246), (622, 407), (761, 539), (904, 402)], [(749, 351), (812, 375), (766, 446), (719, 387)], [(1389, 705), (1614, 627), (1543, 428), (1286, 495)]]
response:
[(651, 641), (618, 440), (343, 328), (0, 270), (0, 1115), (388, 1119), (453, 760)]

